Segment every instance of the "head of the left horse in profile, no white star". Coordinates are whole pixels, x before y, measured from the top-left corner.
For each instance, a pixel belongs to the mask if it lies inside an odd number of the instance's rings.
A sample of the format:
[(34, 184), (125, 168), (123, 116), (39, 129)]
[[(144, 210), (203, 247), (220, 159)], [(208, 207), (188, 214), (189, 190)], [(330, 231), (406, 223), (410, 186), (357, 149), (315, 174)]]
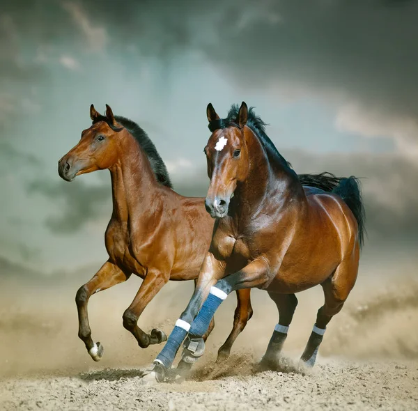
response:
[(76, 176), (96, 170), (109, 169), (118, 159), (118, 132), (123, 127), (114, 118), (106, 104), (106, 116), (90, 107), (93, 125), (82, 132), (82, 138), (58, 162), (61, 178), (72, 181)]

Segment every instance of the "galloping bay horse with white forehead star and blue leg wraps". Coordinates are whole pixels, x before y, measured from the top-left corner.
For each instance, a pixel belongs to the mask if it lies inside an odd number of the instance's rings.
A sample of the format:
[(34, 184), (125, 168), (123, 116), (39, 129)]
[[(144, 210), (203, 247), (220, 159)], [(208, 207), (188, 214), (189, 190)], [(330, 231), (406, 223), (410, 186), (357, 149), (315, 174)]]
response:
[[(183, 363), (201, 355), (202, 336), (233, 290), (261, 288), (279, 311), (262, 363), (272, 366), (297, 305), (295, 293), (320, 284), (325, 304), (302, 362), (314, 366), (325, 328), (353, 288), (364, 236), (357, 179), (341, 178), (332, 192), (303, 187), (265, 134), (265, 123), (242, 102), (220, 119), (208, 104), (212, 132), (205, 153), (210, 187), (206, 210), (215, 218), (210, 249), (192, 299), (154, 362), (157, 381), (183, 345)], [(203, 306), (202, 306), (203, 304)]]

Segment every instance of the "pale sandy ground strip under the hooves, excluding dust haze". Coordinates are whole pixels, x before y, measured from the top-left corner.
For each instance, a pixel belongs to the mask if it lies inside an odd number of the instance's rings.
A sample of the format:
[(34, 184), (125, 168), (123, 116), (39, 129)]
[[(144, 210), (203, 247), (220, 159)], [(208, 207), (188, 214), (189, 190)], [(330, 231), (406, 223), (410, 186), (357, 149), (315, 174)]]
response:
[(180, 384), (144, 384), (138, 371), (109, 369), (7, 380), (0, 387), (0, 409), (418, 410), (418, 362), (320, 361), (308, 374), (252, 374), (250, 364), (247, 370), (243, 364), (246, 359), (234, 356), (224, 369)]

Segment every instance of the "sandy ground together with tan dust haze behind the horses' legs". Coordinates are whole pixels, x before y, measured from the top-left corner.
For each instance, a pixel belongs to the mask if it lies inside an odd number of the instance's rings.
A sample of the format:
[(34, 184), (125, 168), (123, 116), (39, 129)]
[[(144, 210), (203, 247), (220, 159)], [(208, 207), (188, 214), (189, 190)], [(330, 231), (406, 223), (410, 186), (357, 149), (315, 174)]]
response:
[[(418, 282), (416, 274), (385, 277), (369, 272), (327, 329), (311, 371), (297, 359), (323, 302), (314, 288), (300, 301), (279, 371), (254, 364), (270, 339), (277, 311), (266, 294), (253, 294), (254, 317), (233, 355), (214, 367), (229, 334), (235, 297), (215, 316), (205, 357), (191, 379), (144, 383), (162, 346), (138, 348), (121, 315), (140, 281), (92, 297), (93, 339), (104, 345), (95, 363), (77, 338), (74, 284), (45, 286), (4, 282), (0, 295), (0, 410), (418, 410)], [(88, 279), (88, 276), (86, 277)], [(169, 333), (189, 299), (192, 284), (169, 284), (151, 302), (139, 325)]]

